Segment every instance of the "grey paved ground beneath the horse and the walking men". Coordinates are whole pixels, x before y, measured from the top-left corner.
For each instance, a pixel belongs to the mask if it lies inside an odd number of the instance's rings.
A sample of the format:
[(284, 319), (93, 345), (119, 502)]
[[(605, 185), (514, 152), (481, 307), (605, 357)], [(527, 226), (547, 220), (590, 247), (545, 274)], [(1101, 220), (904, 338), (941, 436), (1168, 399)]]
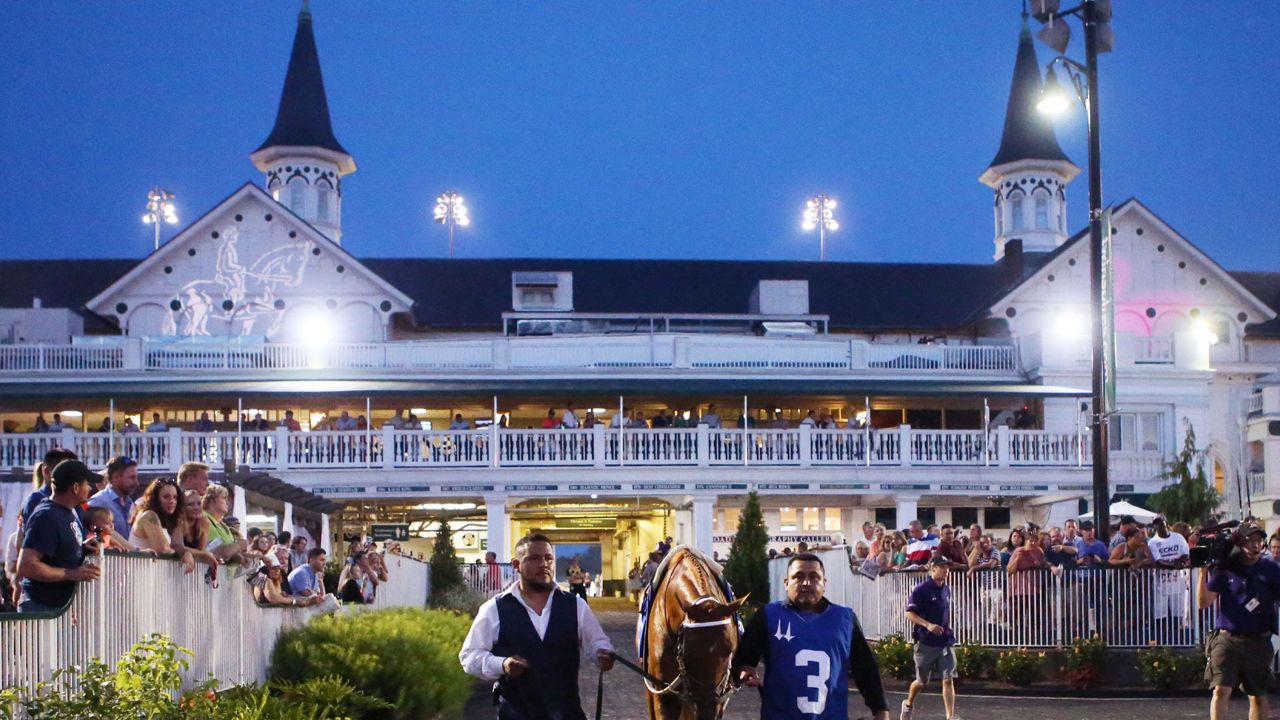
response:
[[(613, 647), (626, 657), (635, 657), (635, 614), (600, 612)], [(595, 712), (595, 666), (584, 664), (579, 678), (582, 705), (590, 719)], [(621, 665), (605, 676), (604, 717), (609, 720), (648, 720), (644, 707), (644, 684), (639, 676)], [(897, 720), (897, 706), (902, 702), (901, 693), (890, 693), (890, 706), (893, 720)], [(1280, 700), (1280, 698), (1277, 698)], [(1233, 702), (1230, 717), (1244, 720), (1248, 707), (1243, 701)], [(867, 706), (856, 692), (849, 698), (850, 720), (868, 717)], [(1088, 700), (1079, 697), (1064, 698), (1018, 698), (1018, 697), (964, 697), (957, 701), (956, 712), (965, 720), (1029, 720), (1048, 717), (1052, 720), (1123, 720), (1135, 717), (1157, 717), (1178, 720), (1208, 716), (1208, 701), (1199, 698), (1180, 700)], [(1280, 708), (1272, 714), (1280, 717)], [(484, 683), (476, 683), (476, 693), (467, 703), (463, 717), (467, 720), (492, 719), (495, 714), (489, 700), (489, 689)], [(760, 700), (755, 691), (744, 689), (733, 696), (724, 720), (758, 720)], [(915, 720), (942, 720), (942, 700), (924, 696), (916, 701)]]

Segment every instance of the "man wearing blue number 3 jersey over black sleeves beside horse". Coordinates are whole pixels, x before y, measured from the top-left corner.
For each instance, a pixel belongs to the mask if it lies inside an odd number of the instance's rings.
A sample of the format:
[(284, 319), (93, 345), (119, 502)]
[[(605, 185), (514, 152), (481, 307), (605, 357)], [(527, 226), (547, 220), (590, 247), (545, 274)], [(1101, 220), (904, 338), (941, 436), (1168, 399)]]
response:
[[(879, 665), (854, 611), (823, 597), (827, 575), (817, 555), (787, 562), (787, 601), (771, 602), (751, 616), (733, 667), (741, 682), (760, 688), (765, 720), (847, 720), (852, 675), (874, 720), (888, 720)], [(755, 665), (764, 660), (764, 679)]]

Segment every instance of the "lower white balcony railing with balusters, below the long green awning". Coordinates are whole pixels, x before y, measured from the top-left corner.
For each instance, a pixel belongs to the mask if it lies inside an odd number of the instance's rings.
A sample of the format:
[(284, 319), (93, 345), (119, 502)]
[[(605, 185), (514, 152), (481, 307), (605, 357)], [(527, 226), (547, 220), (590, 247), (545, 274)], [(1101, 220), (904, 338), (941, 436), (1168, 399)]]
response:
[[(616, 429), (0, 434), (0, 468), (31, 468), (51, 447), (91, 465), (127, 455), (142, 470), (186, 461), (265, 470), (620, 466), (1083, 466), (1088, 437), (1046, 430)], [(497, 448), (497, 451), (494, 450)]]

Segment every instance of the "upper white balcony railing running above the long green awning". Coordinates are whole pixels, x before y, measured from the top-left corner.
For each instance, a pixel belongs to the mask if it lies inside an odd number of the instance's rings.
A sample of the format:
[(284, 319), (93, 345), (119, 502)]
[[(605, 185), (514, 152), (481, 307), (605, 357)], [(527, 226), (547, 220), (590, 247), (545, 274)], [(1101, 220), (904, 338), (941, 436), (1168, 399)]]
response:
[(248, 338), (114, 345), (0, 346), (0, 373), (74, 370), (511, 370), (724, 369), (1014, 373), (1012, 345), (873, 343), (861, 340), (644, 334), (300, 345)]

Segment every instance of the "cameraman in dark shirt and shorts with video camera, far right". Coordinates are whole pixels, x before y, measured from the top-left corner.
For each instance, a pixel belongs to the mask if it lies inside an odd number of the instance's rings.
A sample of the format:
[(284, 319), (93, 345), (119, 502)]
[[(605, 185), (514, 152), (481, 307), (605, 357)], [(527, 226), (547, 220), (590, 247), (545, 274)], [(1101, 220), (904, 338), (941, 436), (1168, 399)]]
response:
[(1226, 720), (1228, 702), (1236, 685), (1243, 685), (1249, 696), (1249, 720), (1267, 716), (1280, 565), (1260, 561), (1266, 538), (1262, 528), (1243, 523), (1230, 538), (1230, 552), (1199, 571), (1197, 603), (1204, 609), (1217, 602), (1215, 629), (1204, 643), (1208, 655), (1204, 682), (1213, 688), (1211, 720)]

